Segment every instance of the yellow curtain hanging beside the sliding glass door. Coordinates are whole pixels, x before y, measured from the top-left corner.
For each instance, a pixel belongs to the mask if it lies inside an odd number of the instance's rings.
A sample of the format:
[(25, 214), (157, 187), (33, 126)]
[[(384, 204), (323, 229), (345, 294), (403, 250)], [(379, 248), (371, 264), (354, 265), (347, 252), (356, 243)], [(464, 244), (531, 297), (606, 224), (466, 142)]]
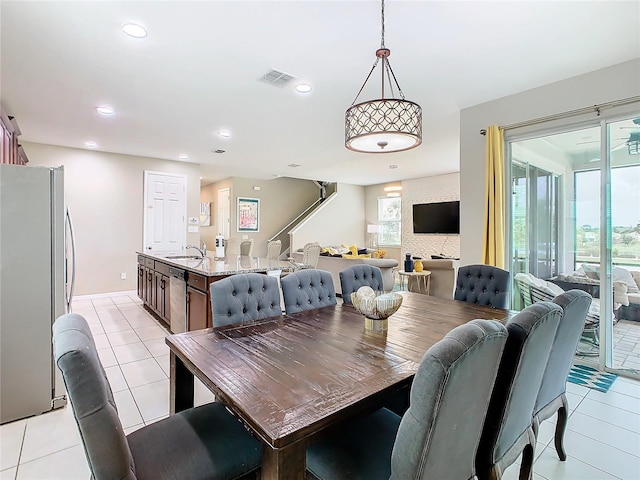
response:
[(487, 128), (482, 263), (504, 268), (504, 130)]

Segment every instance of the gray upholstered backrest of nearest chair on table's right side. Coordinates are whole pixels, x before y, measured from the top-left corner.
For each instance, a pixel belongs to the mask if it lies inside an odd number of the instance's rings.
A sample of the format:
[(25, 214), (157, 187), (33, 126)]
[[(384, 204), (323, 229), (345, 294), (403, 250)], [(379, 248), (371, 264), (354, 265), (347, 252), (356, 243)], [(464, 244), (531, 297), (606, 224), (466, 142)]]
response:
[(391, 455), (393, 479), (467, 480), (507, 339), (495, 320), (472, 320), (425, 353)]

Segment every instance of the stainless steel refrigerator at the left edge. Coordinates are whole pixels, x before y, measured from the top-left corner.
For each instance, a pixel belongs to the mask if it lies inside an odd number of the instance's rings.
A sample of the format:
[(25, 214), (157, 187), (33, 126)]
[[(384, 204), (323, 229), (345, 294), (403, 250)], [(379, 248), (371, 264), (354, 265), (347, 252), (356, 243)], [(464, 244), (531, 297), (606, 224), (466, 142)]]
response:
[(66, 403), (51, 341), (71, 302), (66, 215), (63, 167), (0, 165), (0, 423)]

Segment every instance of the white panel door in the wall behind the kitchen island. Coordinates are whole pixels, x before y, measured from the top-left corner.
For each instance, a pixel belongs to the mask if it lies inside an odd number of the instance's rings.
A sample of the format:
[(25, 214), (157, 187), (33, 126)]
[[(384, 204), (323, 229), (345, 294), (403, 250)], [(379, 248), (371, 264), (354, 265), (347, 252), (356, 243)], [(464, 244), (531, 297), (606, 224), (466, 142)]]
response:
[(187, 238), (187, 177), (144, 172), (144, 250), (182, 250)]

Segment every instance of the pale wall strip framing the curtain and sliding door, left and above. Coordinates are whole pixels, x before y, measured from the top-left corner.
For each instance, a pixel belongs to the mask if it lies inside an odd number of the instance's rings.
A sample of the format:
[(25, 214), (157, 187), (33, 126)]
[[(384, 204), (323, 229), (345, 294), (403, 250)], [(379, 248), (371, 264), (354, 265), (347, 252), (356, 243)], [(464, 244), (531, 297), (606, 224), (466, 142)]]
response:
[[(494, 124), (504, 126), (524, 122), (637, 95), (640, 95), (640, 59), (462, 110), (461, 264), (478, 263), (482, 258), (485, 137), (480, 135), (481, 129)], [(590, 116), (597, 118), (595, 113)]]

